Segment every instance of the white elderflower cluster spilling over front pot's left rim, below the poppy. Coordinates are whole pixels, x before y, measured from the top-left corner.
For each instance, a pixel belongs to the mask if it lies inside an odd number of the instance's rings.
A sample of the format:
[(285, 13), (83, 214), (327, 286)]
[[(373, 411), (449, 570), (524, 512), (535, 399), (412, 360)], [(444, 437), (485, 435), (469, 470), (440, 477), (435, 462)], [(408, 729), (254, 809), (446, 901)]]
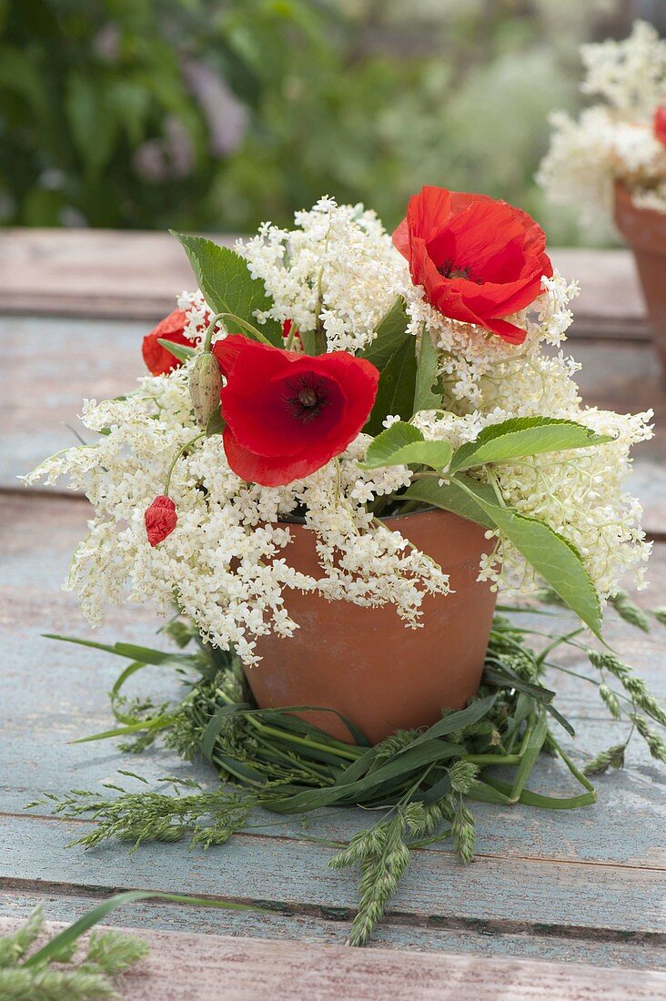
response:
[[(164, 491), (168, 467), (197, 433), (188, 392), (190, 365), (145, 377), (122, 399), (86, 401), (81, 419), (99, 434), (47, 459), (27, 478), (67, 477), (94, 508), (67, 588), (93, 624), (109, 604), (174, 603), (215, 645), (233, 645), (245, 664), (257, 658), (257, 637), (289, 636), (285, 590), (374, 606), (392, 603), (406, 624), (419, 623), (426, 594), (448, 591), (448, 577), (368, 506), (409, 482), (405, 466), (362, 470), (370, 438), (360, 435), (339, 459), (284, 487), (246, 484), (231, 471), (221, 435), (196, 442), (174, 467), (169, 496), (178, 524), (158, 547), (147, 540), (143, 514)], [(306, 511), (316, 536), (320, 574), (289, 564), (291, 534), (280, 517)]]

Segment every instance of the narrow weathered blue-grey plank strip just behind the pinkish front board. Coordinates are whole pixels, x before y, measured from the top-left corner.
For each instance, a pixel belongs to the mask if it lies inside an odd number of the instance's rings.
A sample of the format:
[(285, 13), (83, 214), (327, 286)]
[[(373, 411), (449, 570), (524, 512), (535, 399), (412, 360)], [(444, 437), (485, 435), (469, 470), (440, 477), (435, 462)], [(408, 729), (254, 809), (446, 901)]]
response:
[[(99, 897), (82, 893), (59, 894), (26, 890), (0, 892), (0, 913), (23, 919), (40, 904), (50, 921), (71, 922), (97, 903)], [(291, 939), (300, 943), (342, 945), (349, 934), (349, 919), (326, 920), (312, 915), (257, 914), (174, 907), (140, 901), (113, 913), (114, 926), (159, 929), (169, 932), (200, 932), (212, 935), (247, 935), (264, 939)], [(561, 938), (539, 932), (501, 932), (475, 928), (384, 922), (373, 933), (367, 948), (420, 949), (475, 956), (515, 956), (553, 962), (588, 963), (595, 966), (650, 970), (666, 967), (663, 951), (654, 946), (594, 938)], [(558, 999), (560, 1001), (560, 999)]]

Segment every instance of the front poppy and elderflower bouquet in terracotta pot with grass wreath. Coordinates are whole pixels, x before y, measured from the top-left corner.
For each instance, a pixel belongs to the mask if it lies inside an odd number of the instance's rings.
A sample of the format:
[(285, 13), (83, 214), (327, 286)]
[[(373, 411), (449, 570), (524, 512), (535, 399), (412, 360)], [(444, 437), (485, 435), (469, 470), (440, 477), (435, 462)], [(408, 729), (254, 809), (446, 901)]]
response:
[[(91, 622), (126, 601), (178, 613), (165, 627), (178, 653), (73, 641), (131, 662), (111, 693), (118, 726), (89, 739), (141, 751), (159, 734), (223, 784), (45, 802), (92, 812), (86, 847), (219, 845), (257, 806), (383, 811), (330, 860), (361, 867), (362, 944), (411, 849), (452, 838), (471, 860), (469, 800), (595, 801), (550, 729), (574, 735), (542, 684), (560, 644), (585, 653), (611, 715), (666, 760), (648, 722), (666, 714), (643, 682), (578, 639), (599, 636), (607, 601), (647, 628), (618, 583), (640, 585), (649, 555), (624, 480), (651, 414), (582, 404), (562, 348), (576, 286), (505, 202), (425, 187), (391, 236), (324, 197), (233, 251), (178, 238), (199, 288), (144, 338), (150, 374), (86, 401), (96, 439), (28, 478), (66, 476), (94, 508), (67, 583)], [(498, 590), (544, 583), (584, 625), (537, 654), (493, 612)], [(184, 697), (125, 699), (147, 664), (172, 668)], [(589, 771), (619, 767), (629, 737)], [(528, 788), (542, 750), (579, 794)]]

